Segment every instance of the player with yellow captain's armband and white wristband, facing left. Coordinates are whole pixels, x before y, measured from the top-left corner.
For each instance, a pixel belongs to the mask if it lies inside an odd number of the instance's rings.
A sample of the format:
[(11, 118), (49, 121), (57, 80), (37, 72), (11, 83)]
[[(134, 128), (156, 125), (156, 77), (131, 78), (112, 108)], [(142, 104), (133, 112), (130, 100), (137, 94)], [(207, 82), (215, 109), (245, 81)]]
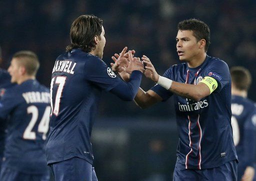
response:
[[(160, 76), (143, 55), (144, 74), (157, 84), (147, 92), (140, 88), (134, 100), (146, 108), (174, 95), (179, 140), (173, 180), (236, 180), (228, 66), (206, 54), (210, 43), (207, 24), (188, 19), (179, 22), (177, 29), (177, 54), (184, 63)], [(120, 75), (124, 80), (128, 77), (123, 72)]]

